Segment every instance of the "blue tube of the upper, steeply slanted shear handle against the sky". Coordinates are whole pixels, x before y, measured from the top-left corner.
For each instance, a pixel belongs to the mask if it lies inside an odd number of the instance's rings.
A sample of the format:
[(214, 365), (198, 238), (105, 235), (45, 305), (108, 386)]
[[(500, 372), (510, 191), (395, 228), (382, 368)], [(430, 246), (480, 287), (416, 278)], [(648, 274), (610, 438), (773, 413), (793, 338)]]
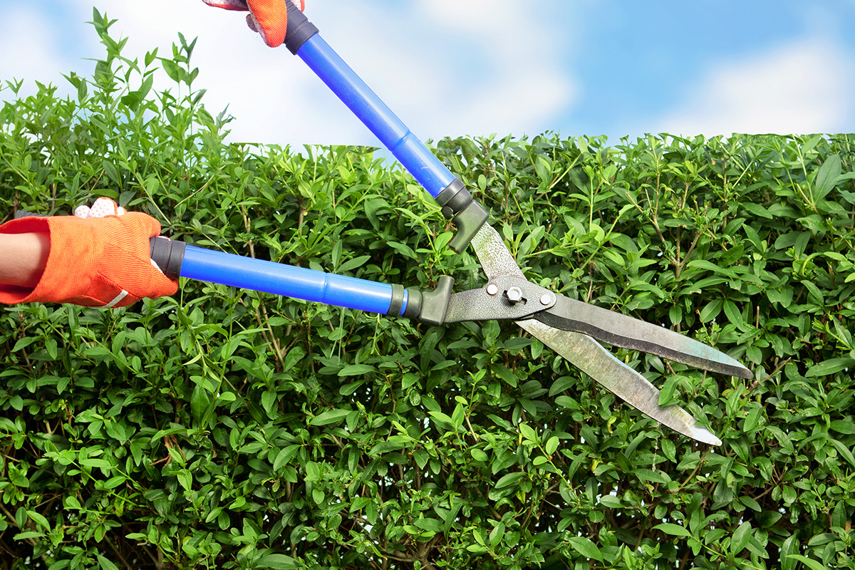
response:
[(305, 40), (297, 55), (380, 138), (386, 149), (432, 197), (439, 196), (451, 185), (455, 180), (454, 174), (433, 156), (319, 34)]

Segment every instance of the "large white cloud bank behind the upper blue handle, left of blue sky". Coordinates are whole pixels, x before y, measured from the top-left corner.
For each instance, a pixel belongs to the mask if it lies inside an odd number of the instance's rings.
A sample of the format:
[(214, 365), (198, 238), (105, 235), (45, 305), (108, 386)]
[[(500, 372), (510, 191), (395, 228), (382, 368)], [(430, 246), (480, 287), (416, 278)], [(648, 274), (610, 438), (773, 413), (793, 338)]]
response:
[[(70, 0), (72, 16), (56, 22), (46, 4), (4, 13), (0, 77), (9, 72), (63, 85), (70, 68), (91, 71), (85, 57), (102, 57), (91, 26), (91, 0)], [(200, 69), (195, 88), (208, 90), (209, 111), (228, 107), (237, 120), (232, 140), (275, 144), (376, 144), (303, 62), (284, 47), (269, 50), (243, 22), (243, 15), (212, 9), (199, 0), (95, 0), (118, 22), (114, 38), (129, 38), (124, 55), (143, 58), (159, 47), (169, 56), (177, 33), (198, 37), (192, 64)], [(21, 6), (19, 4), (19, 6)], [(575, 85), (559, 60), (561, 36), (547, 29), (551, 19), (512, 0), (417, 0), (391, 6), (380, 2), (310, 3), (310, 18), (381, 99), (420, 138), (458, 134), (535, 134), (575, 100)], [(545, 8), (546, 11), (549, 8)], [(32, 22), (75, 38), (44, 42)], [(554, 22), (553, 22), (554, 23)], [(24, 31), (27, 32), (24, 32)], [(525, 49), (516, 43), (526, 38)], [(25, 42), (25, 40), (27, 40)], [(11, 42), (27, 49), (9, 50)], [(66, 39), (68, 43), (68, 39)], [(170, 84), (161, 78), (156, 88)], [(3, 97), (0, 95), (0, 97)]]

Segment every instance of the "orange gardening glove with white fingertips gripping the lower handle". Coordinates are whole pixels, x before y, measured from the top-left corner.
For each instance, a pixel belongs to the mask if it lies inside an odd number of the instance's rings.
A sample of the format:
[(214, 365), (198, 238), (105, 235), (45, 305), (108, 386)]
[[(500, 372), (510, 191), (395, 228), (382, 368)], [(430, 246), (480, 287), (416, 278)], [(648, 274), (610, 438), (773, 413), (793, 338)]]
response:
[(0, 303), (74, 303), (85, 307), (127, 307), (143, 297), (174, 295), (177, 281), (151, 261), (149, 238), (160, 223), (141, 212), (124, 213), (109, 198), (75, 215), (27, 217), (0, 226), (3, 233), (42, 232), (50, 253), (32, 291), (0, 285)]

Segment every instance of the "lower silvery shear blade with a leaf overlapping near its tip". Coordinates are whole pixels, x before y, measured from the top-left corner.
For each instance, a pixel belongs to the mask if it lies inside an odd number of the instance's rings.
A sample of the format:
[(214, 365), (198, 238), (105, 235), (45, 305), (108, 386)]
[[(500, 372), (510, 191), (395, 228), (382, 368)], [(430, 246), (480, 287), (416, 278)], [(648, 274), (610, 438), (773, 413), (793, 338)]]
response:
[(616, 396), (663, 426), (669, 426), (676, 432), (705, 444), (722, 444), (721, 439), (699, 425), (698, 420), (680, 406), (661, 408), (657, 387), (640, 373), (617, 360), (587, 334), (562, 331), (534, 319), (517, 320), (516, 323)]

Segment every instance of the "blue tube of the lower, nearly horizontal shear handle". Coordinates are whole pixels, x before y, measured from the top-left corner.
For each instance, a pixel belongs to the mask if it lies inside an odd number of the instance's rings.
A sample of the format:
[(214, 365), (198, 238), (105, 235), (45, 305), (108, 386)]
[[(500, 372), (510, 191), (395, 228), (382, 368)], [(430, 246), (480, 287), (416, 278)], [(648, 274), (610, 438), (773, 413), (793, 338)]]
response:
[[(192, 245), (187, 245), (184, 250), (180, 276), (372, 313), (386, 314), (392, 304), (392, 285), (386, 283), (235, 256)], [(404, 291), (404, 306), (400, 314), (404, 314), (406, 307)]]

